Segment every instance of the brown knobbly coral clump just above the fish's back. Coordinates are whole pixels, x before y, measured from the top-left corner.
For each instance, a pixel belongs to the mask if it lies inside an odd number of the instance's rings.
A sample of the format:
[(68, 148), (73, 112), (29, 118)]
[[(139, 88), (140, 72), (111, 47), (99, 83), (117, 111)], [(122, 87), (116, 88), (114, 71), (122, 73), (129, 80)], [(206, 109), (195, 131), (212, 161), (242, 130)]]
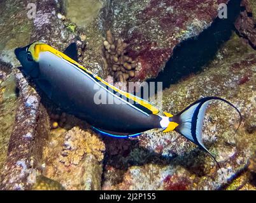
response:
[(134, 77), (136, 63), (127, 56), (127, 44), (120, 37), (113, 37), (108, 30), (103, 45), (104, 66), (108, 73), (114, 77), (114, 81), (124, 83)]

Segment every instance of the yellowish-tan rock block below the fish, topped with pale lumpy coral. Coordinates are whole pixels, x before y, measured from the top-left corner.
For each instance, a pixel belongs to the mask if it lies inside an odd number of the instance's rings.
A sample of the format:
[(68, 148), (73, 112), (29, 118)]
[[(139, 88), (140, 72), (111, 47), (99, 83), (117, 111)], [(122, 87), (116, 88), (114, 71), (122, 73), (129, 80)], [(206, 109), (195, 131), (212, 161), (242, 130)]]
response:
[(100, 190), (104, 150), (103, 141), (88, 129), (55, 129), (43, 151), (43, 175), (67, 190)]

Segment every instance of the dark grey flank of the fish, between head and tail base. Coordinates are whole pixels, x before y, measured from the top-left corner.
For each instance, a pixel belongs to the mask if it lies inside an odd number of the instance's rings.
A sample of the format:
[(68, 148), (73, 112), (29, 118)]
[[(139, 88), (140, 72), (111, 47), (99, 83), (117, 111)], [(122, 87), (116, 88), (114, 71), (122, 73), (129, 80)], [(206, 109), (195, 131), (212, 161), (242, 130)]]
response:
[[(122, 134), (136, 134), (148, 129), (161, 128), (160, 117), (146, 114), (125, 100), (107, 93), (104, 84), (72, 63), (52, 53), (40, 53), (39, 74), (34, 82), (54, 103), (70, 114), (85, 119), (99, 129)], [(96, 104), (97, 93), (112, 103)]]

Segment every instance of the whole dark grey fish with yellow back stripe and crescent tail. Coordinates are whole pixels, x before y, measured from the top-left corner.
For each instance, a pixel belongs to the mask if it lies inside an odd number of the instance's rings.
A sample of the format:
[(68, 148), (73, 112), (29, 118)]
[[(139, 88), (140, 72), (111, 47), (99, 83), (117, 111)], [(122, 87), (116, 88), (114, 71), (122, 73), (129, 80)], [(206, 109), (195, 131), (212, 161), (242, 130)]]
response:
[[(74, 43), (64, 53), (41, 42), (15, 49), (22, 72), (31, 77), (50, 100), (69, 114), (89, 122), (97, 131), (117, 138), (138, 136), (155, 128), (163, 129), (163, 133), (176, 131), (210, 154), (202, 140), (206, 108), (214, 100), (234, 107), (232, 103), (218, 97), (206, 97), (177, 115), (166, 112), (159, 115), (158, 108), (148, 101), (108, 84), (80, 65), (76, 62), (75, 53)], [(97, 104), (94, 96), (99, 90), (105, 94), (107, 101), (114, 102)], [(241, 113), (234, 108), (240, 115), (241, 124)]]

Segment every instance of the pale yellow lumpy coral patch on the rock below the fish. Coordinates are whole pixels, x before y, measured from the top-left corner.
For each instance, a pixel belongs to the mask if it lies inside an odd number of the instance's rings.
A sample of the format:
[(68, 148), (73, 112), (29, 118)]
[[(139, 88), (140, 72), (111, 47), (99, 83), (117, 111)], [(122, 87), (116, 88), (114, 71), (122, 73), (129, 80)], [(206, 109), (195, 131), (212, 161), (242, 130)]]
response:
[(99, 162), (103, 160), (105, 146), (95, 134), (75, 127), (69, 130), (64, 137), (60, 162), (63, 162), (65, 166), (78, 165), (85, 154), (93, 154)]

